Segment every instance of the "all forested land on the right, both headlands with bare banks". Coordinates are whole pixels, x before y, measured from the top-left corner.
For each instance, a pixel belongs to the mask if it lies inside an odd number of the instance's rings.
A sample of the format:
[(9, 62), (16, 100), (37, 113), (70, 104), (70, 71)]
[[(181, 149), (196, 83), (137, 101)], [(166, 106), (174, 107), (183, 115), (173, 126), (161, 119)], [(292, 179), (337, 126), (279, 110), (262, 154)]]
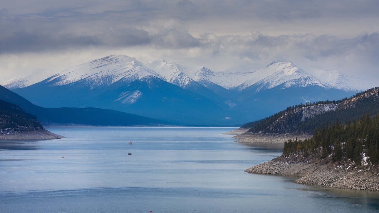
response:
[(246, 133), (234, 138), (284, 143), (282, 156), (245, 172), (294, 175), (299, 177), (295, 183), (379, 191), (378, 112), (376, 87), (338, 101), (288, 107), (242, 125), (239, 131)]

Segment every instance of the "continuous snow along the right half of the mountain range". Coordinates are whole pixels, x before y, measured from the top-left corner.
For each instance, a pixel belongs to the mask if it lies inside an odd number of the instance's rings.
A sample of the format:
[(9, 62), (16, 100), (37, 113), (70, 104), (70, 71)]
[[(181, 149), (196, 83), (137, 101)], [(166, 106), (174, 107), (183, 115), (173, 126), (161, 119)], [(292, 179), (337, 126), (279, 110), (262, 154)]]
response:
[[(308, 71), (309, 70), (309, 71)], [(263, 69), (246, 72), (214, 72), (201, 67), (194, 73), (194, 80), (207, 86), (210, 83), (220, 85), (227, 89), (237, 88), (244, 90), (251, 85), (260, 85), (257, 92), (284, 84), (283, 88), (293, 86), (307, 87), (318, 85), (324, 88), (336, 88), (344, 91), (362, 91), (376, 85), (365, 79), (356, 79), (333, 70), (310, 70), (293, 65), (290, 62), (274, 61)]]

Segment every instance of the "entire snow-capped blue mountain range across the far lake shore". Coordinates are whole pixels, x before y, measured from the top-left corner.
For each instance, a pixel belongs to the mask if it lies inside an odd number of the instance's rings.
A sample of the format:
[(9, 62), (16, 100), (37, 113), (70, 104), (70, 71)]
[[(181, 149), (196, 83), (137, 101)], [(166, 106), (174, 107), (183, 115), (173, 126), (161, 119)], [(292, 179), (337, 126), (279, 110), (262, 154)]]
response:
[(111, 55), (37, 83), (29, 77), (3, 86), (42, 107), (97, 107), (194, 126), (236, 126), (294, 104), (341, 99), (374, 87), (339, 71), (322, 73), (315, 77), (281, 61), (244, 72), (204, 66), (189, 71), (164, 60)]

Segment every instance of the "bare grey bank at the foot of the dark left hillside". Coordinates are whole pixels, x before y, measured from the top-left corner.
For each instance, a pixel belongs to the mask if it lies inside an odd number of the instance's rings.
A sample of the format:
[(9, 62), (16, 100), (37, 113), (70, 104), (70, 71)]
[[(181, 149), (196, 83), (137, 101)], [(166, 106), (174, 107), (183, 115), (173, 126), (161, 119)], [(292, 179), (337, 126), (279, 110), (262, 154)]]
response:
[(1, 129), (0, 140), (45, 140), (64, 138), (45, 129), (17, 131), (14, 129)]

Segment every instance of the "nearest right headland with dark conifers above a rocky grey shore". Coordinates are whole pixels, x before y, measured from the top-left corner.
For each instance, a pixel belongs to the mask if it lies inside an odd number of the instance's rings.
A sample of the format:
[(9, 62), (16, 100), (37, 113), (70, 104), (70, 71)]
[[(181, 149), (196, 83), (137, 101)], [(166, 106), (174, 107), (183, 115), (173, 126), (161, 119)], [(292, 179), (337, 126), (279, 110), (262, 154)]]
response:
[(313, 137), (288, 140), (283, 155), (246, 169), (300, 177), (295, 183), (379, 191), (379, 115), (330, 123)]

